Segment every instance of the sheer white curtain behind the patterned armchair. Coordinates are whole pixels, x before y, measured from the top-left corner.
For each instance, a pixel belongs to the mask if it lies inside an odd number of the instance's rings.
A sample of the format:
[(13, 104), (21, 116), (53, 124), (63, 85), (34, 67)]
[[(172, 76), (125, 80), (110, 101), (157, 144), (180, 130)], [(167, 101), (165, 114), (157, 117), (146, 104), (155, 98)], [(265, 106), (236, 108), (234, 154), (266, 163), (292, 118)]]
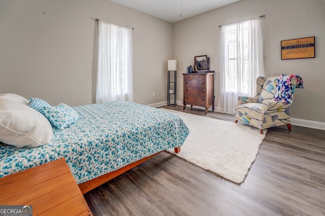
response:
[(238, 96), (254, 96), (264, 76), (260, 18), (221, 26), (220, 66), (218, 111), (234, 114)]

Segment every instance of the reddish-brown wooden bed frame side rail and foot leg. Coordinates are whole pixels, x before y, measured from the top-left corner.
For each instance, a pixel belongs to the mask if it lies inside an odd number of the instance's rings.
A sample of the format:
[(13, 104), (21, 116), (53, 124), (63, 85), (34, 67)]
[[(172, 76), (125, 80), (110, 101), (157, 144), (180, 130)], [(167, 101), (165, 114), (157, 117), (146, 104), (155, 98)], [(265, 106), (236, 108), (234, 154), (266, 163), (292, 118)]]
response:
[[(175, 153), (179, 153), (181, 151), (181, 147), (177, 147), (177, 148), (174, 148), (174, 151)], [(81, 183), (79, 184), (79, 188), (80, 188), (80, 191), (82, 194), (85, 194), (89, 191), (91, 191), (92, 189), (100, 186), (100, 185), (103, 185), (104, 183), (110, 181), (111, 179), (115, 178), (116, 176), (138, 166), (139, 164), (149, 160), (150, 158), (156, 156), (157, 154), (159, 154), (160, 152), (156, 153), (156, 154), (153, 154), (153, 155), (150, 155), (148, 157), (145, 157), (145, 158), (142, 158), (136, 162), (133, 162), (131, 164), (128, 164), (126, 166), (123, 166), (122, 168), (119, 168), (115, 171), (112, 171), (112, 172), (109, 172), (109, 173), (106, 173), (104, 175), (101, 175), (99, 177), (96, 177), (96, 178), (93, 178), (87, 182), (84, 182), (84, 183)]]

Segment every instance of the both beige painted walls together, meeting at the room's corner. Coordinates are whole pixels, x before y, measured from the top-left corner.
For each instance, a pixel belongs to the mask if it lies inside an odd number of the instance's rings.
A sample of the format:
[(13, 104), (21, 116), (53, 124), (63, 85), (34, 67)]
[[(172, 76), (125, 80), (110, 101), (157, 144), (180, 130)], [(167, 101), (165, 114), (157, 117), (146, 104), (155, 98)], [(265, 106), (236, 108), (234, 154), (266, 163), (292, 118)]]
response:
[[(94, 19), (100, 18), (135, 28), (136, 102), (166, 101), (168, 59), (178, 61), (177, 99), (182, 100), (181, 74), (193, 64), (193, 56), (202, 54), (211, 58), (216, 71), (218, 96), (218, 25), (262, 14), (266, 75), (302, 76), (306, 88), (297, 90), (291, 116), (325, 122), (323, 0), (241, 0), (174, 24), (108, 0), (0, 0), (0, 93), (40, 97), (52, 105), (94, 102), (98, 30)], [(281, 60), (281, 40), (310, 36), (316, 37), (316, 58)]]

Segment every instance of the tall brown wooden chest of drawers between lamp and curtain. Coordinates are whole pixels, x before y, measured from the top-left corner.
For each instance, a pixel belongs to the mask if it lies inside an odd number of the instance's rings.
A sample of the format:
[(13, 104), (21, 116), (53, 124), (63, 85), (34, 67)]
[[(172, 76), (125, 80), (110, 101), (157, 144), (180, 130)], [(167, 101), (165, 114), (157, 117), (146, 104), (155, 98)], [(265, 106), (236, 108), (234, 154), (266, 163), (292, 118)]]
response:
[(191, 108), (193, 105), (204, 106), (205, 114), (210, 106), (214, 111), (213, 76), (214, 71), (183, 74), (183, 110), (189, 104)]

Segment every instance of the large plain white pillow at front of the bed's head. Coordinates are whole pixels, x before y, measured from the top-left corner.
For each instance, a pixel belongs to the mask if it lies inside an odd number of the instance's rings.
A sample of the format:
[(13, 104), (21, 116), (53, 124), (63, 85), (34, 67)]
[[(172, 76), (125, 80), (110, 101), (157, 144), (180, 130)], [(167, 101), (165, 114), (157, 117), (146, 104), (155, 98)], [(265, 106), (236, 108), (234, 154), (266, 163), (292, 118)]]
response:
[(53, 137), (52, 126), (28, 105), (0, 98), (0, 141), (21, 147), (37, 147)]

